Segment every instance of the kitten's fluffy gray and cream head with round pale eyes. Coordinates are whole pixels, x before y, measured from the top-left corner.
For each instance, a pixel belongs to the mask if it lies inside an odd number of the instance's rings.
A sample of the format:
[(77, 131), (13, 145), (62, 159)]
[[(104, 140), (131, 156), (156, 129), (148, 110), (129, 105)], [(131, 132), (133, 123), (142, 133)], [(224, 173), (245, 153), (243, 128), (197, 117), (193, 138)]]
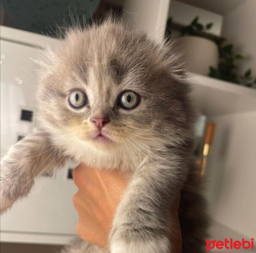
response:
[(122, 24), (70, 30), (44, 61), (41, 121), (80, 156), (134, 158), (184, 143), (192, 116), (176, 58), (168, 45)]

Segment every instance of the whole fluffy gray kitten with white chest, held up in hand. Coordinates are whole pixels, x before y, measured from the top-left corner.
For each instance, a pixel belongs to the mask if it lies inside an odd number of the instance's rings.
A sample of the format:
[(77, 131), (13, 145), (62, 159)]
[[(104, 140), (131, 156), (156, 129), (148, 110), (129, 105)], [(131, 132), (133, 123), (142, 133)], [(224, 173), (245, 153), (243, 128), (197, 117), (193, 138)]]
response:
[[(116, 210), (111, 253), (171, 253), (168, 217), (181, 191), (182, 252), (204, 252), (207, 216), (194, 171), (189, 86), (168, 44), (118, 22), (70, 29), (41, 61), (41, 128), (1, 164), (1, 210), (67, 158), (133, 174)], [(68, 253), (106, 252), (75, 242)]]

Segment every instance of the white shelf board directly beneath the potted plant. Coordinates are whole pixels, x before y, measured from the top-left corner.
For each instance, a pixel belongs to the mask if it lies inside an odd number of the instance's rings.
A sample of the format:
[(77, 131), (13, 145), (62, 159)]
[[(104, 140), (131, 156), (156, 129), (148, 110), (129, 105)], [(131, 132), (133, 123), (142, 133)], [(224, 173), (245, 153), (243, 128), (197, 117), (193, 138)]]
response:
[(256, 89), (193, 73), (188, 80), (196, 108), (204, 115), (256, 111)]

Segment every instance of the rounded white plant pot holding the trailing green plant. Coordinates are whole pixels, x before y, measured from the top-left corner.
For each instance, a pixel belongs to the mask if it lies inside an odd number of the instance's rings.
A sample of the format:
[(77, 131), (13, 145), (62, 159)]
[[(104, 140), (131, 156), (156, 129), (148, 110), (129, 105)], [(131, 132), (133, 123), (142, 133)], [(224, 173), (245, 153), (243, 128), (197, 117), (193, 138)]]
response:
[(218, 46), (212, 41), (197, 36), (183, 36), (175, 43), (182, 52), (182, 61), (188, 71), (201, 75), (209, 74), (209, 67), (218, 67)]

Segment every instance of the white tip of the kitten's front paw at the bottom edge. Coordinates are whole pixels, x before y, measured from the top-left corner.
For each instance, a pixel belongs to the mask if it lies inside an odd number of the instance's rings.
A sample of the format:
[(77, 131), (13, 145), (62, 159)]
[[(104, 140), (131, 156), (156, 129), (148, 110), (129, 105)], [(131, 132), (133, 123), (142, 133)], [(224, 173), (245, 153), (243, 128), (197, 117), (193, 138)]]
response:
[(169, 239), (117, 240), (111, 243), (111, 253), (170, 253)]

